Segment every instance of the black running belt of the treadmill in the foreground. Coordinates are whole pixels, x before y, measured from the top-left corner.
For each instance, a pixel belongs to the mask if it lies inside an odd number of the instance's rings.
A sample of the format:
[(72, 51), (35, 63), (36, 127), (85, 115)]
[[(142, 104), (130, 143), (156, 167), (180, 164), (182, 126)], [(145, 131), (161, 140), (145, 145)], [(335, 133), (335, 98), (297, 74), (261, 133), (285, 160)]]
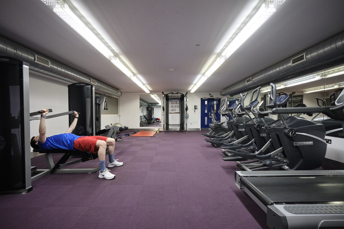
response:
[(343, 175), (244, 177), (245, 186), (265, 206), (273, 203), (328, 203), (344, 201)]

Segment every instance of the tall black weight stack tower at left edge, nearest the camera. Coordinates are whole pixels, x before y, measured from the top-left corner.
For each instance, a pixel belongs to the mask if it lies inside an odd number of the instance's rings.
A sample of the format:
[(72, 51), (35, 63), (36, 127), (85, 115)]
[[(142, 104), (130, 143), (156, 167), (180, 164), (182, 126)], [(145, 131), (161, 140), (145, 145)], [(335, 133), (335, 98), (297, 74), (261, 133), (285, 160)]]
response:
[(29, 64), (0, 56), (0, 192), (30, 192)]

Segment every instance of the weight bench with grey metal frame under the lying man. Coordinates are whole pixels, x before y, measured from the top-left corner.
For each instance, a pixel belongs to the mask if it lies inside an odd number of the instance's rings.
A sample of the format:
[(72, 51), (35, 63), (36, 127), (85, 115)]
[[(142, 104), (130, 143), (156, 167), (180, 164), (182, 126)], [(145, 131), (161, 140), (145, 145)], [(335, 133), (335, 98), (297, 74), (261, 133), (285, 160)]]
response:
[[(31, 173), (37, 173), (36, 175), (31, 177), (31, 181), (34, 181), (48, 173), (94, 173), (100, 170), (100, 165), (98, 164), (97, 168), (94, 169), (61, 169), (63, 167), (66, 167), (67, 165), (76, 164), (79, 162), (94, 160), (98, 158), (98, 153), (91, 153), (91, 152), (84, 152), (79, 150), (63, 150), (63, 149), (52, 149), (52, 150), (40, 150), (40, 149), (34, 149), (33, 152), (39, 152), (39, 153), (45, 153), (45, 159), (48, 164), (49, 169), (33, 169), (32, 168)], [(72, 156), (72, 153), (79, 153), (81, 155), (81, 158), (74, 160), (74, 161), (68, 161), (67, 160)], [(52, 153), (64, 153), (62, 158), (54, 164)], [(106, 151), (106, 154), (107, 151)]]

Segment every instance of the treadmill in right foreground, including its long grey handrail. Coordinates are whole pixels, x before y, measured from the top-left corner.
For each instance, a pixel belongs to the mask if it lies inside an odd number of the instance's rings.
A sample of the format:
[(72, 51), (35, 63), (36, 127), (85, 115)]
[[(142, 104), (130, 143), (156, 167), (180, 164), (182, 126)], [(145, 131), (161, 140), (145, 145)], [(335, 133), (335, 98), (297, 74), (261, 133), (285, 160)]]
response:
[[(344, 127), (343, 92), (335, 105), (272, 112), (321, 112)], [(269, 228), (344, 228), (344, 170), (236, 171), (235, 184), (266, 212)]]

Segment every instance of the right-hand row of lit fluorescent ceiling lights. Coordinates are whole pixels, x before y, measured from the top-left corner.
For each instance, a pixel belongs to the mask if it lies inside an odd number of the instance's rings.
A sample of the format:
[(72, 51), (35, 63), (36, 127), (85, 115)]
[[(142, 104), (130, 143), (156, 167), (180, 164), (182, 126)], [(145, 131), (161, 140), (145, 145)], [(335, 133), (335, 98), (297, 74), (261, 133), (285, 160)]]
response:
[[(235, 36), (235, 38), (229, 43), (221, 55), (218, 56), (214, 64), (208, 66), (208, 70), (198, 78), (196, 84), (193, 86), (190, 92), (194, 92), (205, 81), (203, 76), (211, 76), (214, 71), (220, 67), (223, 62), (232, 55), (270, 16), (276, 12), (274, 4), (282, 4), (285, 0), (269, 1), (263, 3), (255, 15), (247, 22), (247, 24), (241, 29), (241, 31)], [(207, 79), (206, 78), (206, 79)], [(203, 81), (200, 83), (200, 81)]]

